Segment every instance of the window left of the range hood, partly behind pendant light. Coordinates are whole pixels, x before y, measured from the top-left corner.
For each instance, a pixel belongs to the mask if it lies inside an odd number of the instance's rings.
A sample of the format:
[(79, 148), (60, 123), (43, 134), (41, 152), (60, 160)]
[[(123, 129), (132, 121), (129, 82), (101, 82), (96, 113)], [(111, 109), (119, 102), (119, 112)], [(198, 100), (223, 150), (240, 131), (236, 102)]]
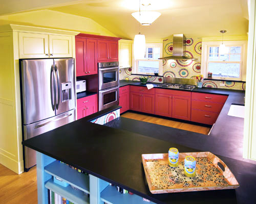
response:
[(145, 75), (162, 75), (162, 43), (147, 43), (145, 50), (145, 57), (143, 59), (135, 60), (134, 73)]

